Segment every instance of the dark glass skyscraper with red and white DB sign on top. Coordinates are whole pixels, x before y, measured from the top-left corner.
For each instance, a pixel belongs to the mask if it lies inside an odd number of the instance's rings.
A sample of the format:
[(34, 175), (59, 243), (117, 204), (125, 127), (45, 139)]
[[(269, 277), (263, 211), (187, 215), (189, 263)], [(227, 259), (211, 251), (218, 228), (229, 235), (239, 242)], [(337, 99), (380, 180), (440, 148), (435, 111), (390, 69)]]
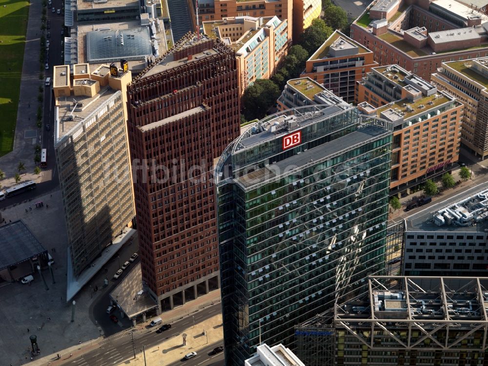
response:
[(390, 122), (349, 105), (252, 125), (216, 168), (225, 359), (293, 348), (294, 326), (385, 267)]

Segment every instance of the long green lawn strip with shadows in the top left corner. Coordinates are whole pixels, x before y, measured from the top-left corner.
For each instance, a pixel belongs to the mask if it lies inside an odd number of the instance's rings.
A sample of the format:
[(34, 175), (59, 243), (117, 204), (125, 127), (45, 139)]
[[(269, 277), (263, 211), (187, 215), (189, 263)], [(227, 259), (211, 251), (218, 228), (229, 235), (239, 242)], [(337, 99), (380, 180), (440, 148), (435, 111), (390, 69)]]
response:
[(0, 156), (14, 144), (28, 14), (28, 1), (0, 0)]

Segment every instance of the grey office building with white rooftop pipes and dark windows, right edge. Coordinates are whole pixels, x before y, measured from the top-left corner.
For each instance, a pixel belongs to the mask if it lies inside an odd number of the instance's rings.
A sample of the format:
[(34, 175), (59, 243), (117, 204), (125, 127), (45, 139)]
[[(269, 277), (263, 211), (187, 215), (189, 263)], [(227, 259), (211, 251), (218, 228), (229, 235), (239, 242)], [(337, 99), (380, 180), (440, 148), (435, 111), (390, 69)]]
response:
[(488, 275), (486, 185), (429, 206), (406, 224), (406, 276)]

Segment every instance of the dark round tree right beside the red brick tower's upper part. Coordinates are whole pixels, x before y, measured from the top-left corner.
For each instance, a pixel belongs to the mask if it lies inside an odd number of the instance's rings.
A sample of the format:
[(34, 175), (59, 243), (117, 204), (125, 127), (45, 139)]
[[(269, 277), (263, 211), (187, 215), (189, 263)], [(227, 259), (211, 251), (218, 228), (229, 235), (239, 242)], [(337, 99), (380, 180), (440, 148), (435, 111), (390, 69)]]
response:
[(280, 89), (271, 80), (258, 79), (244, 90), (244, 117), (247, 120), (263, 118), (280, 96)]

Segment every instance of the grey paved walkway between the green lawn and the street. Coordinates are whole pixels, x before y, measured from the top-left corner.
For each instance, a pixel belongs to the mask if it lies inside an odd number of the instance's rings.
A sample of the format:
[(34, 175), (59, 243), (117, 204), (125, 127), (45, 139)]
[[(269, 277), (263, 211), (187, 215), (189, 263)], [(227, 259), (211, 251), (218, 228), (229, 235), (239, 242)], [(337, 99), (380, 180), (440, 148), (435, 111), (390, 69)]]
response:
[[(36, 125), (36, 113), (39, 105), (37, 97), (39, 86), (41, 85), (44, 89), (44, 81), (39, 79), (41, 13), (42, 2), (40, 0), (31, 1), (25, 34), (14, 147), (13, 151), (0, 158), (0, 169), (5, 173), (6, 178), (1, 181), (2, 186), (15, 183), (13, 177), (17, 173), (17, 165), (20, 161), (24, 163), (26, 172), (32, 173), (34, 171), (34, 148), (37, 143), (40, 143), (40, 130)], [(27, 174), (27, 176), (22, 174), (21, 177), (22, 181), (38, 178), (34, 174)]]

